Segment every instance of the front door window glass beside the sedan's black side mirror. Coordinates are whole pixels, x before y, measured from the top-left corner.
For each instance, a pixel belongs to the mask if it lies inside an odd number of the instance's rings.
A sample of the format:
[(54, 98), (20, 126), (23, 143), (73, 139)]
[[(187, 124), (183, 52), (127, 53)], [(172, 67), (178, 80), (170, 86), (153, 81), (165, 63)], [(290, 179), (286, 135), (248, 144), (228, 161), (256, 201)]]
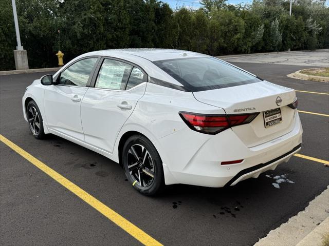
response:
[(96, 64), (98, 58), (86, 58), (65, 69), (59, 79), (59, 85), (86, 86), (90, 73)]

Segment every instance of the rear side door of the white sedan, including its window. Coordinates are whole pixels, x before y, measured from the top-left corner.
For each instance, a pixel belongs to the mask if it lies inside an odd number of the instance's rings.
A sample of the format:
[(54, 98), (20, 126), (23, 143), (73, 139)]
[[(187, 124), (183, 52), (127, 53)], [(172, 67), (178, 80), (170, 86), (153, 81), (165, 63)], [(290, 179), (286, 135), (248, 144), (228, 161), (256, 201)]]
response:
[(85, 142), (112, 153), (117, 135), (144, 95), (147, 74), (126, 61), (103, 58), (81, 104)]

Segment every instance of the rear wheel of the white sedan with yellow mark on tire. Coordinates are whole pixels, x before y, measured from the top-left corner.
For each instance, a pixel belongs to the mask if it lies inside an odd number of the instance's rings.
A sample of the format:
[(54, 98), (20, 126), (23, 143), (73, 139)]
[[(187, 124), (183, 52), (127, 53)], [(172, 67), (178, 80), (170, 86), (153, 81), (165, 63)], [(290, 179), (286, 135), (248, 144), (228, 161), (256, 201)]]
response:
[(152, 196), (165, 186), (161, 158), (148, 138), (142, 135), (128, 138), (123, 146), (122, 162), (127, 179), (140, 193)]

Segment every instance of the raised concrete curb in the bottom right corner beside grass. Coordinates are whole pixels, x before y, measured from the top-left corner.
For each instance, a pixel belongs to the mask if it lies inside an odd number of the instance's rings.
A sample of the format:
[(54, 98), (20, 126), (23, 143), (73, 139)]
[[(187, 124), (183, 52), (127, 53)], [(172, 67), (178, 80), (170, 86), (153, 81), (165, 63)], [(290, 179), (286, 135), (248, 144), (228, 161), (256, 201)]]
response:
[(329, 216), (317, 226), (312, 232), (308, 233), (296, 246), (321, 246), (321, 241), (326, 233), (329, 232)]

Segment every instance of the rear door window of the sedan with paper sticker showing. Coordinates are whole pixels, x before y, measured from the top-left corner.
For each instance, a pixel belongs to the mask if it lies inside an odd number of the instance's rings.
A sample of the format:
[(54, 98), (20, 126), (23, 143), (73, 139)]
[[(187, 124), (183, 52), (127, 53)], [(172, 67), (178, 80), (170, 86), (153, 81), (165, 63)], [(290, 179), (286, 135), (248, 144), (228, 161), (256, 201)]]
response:
[(102, 89), (124, 90), (133, 66), (119, 60), (104, 59), (99, 70), (95, 87)]

